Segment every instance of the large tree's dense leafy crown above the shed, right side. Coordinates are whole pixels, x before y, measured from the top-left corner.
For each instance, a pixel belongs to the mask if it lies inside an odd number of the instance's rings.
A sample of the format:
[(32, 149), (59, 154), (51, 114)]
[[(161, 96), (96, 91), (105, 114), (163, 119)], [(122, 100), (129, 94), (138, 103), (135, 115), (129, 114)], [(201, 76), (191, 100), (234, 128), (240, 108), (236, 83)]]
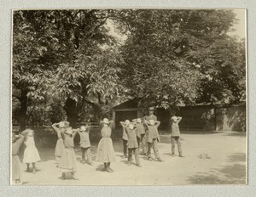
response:
[(245, 92), (245, 54), (227, 35), (236, 22), (232, 11), (120, 10), (113, 15), (128, 37), (122, 48), (129, 65), (125, 83), (141, 104), (170, 108), (222, 100), (226, 93), (239, 100)]

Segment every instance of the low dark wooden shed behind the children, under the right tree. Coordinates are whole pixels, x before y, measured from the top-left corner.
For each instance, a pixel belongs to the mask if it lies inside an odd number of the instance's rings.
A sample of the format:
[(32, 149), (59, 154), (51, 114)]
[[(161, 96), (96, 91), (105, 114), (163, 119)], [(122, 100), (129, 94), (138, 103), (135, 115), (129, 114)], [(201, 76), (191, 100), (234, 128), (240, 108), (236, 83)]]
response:
[[(147, 110), (139, 108), (136, 100), (128, 100), (113, 108), (114, 127), (120, 127), (119, 121), (143, 117)], [(246, 103), (241, 104), (197, 104), (177, 106), (173, 112), (158, 108), (154, 115), (161, 122), (160, 129), (168, 130), (171, 114), (183, 117), (180, 122), (182, 131), (246, 131)]]

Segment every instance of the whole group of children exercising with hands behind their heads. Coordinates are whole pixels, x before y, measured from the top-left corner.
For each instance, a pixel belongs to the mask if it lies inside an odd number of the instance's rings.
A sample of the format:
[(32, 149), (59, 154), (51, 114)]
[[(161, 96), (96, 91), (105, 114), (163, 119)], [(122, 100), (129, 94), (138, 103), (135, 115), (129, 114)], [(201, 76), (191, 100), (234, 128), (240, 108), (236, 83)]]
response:
[[(172, 155), (175, 151), (175, 142), (178, 144), (179, 156), (182, 155), (181, 144), (179, 138), (179, 128), (178, 123), (181, 121), (181, 117), (173, 116), (172, 119)], [(102, 162), (104, 167), (102, 171), (113, 172), (110, 167), (111, 162), (115, 161), (115, 154), (113, 150), (113, 141), (111, 139), (113, 121), (108, 121), (104, 118), (100, 121), (100, 131), (102, 138), (98, 144), (96, 151), (96, 161)], [(132, 121), (120, 121), (123, 127), (123, 147), (124, 147), (124, 157), (128, 157), (128, 165), (131, 165), (132, 155), (135, 155), (136, 165), (141, 167), (139, 160), (139, 147), (143, 149), (143, 155), (148, 156), (148, 160), (152, 161), (151, 149), (154, 150), (155, 159), (158, 161), (163, 161), (160, 158), (160, 153), (158, 149), (158, 142), (160, 142), (160, 135), (158, 132), (158, 127), (160, 126), (160, 121), (156, 120), (153, 114), (149, 114), (143, 119), (137, 118)], [(87, 157), (89, 165), (92, 165), (91, 155), (90, 155), (90, 126), (82, 126), (77, 129), (69, 127), (67, 121), (61, 121), (59, 123), (54, 123), (52, 125), (53, 129), (57, 133), (58, 140), (55, 145), (55, 161), (58, 168), (62, 172), (62, 179), (65, 179), (66, 172), (71, 172), (72, 178), (77, 180), (78, 177), (75, 176), (77, 171), (77, 159), (74, 152), (74, 141), (76, 134), (79, 133), (80, 136), (80, 148), (82, 153), (82, 163), (85, 163), (85, 155)], [(13, 133), (12, 136), (12, 175), (15, 183), (20, 183), (20, 160), (18, 157), (20, 145), (24, 141), (26, 149), (24, 152), (23, 163), (27, 165), (27, 172), (29, 172), (29, 165), (32, 163), (32, 172), (36, 172), (36, 162), (40, 160), (38, 155), (38, 149), (34, 143), (34, 132), (31, 129), (26, 129), (21, 132), (19, 136)], [(128, 153), (128, 156), (127, 156)]]

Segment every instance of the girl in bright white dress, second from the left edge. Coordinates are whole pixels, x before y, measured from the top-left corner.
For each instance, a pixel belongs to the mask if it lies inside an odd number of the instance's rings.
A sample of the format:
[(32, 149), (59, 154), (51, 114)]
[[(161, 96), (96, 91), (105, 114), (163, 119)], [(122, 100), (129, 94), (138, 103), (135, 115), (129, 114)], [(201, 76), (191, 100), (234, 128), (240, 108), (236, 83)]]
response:
[(32, 129), (26, 129), (21, 134), (24, 136), (24, 144), (26, 145), (23, 163), (26, 163), (26, 172), (30, 171), (29, 165), (32, 163), (32, 172), (34, 174), (36, 173), (36, 162), (41, 160), (35, 145), (34, 131)]

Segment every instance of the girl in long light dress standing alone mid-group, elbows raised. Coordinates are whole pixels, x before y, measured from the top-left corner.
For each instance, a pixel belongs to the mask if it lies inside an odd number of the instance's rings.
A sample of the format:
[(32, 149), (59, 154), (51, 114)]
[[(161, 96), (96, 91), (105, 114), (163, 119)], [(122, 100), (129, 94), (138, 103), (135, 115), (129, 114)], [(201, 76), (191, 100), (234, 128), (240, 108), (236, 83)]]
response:
[(110, 168), (110, 163), (115, 161), (113, 142), (110, 138), (112, 123), (113, 121), (108, 121), (108, 118), (104, 118), (103, 121), (100, 121), (102, 139), (98, 144), (96, 157), (96, 161), (104, 163), (102, 171), (107, 172), (113, 172), (113, 169)]

